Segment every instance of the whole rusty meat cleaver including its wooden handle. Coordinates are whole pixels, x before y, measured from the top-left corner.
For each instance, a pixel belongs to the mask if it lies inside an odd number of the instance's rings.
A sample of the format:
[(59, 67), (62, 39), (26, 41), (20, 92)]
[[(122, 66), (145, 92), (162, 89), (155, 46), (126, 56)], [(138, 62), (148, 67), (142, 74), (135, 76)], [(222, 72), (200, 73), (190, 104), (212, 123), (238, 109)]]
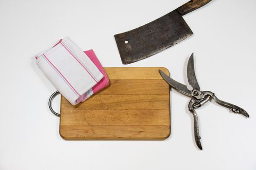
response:
[(116, 34), (123, 64), (130, 64), (163, 51), (193, 34), (183, 15), (211, 0), (190, 0), (174, 11), (134, 30)]

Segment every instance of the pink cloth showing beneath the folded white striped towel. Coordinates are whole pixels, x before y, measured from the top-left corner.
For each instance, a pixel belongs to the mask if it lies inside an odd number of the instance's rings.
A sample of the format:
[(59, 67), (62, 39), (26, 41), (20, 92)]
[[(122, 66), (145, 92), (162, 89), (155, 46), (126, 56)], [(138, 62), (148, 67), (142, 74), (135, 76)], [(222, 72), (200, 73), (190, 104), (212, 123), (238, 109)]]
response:
[[(95, 55), (93, 50), (84, 51), (84, 53), (92, 60), (92, 62), (96, 65), (96, 67), (99, 69), (99, 71), (103, 74), (103, 78), (98, 82), (97, 85), (93, 86), (92, 91), (93, 94), (97, 93), (99, 90), (103, 89), (104, 87), (109, 85), (109, 79), (108, 76), (102, 68), (100, 62), (98, 61), (97, 56)], [(77, 103), (83, 102), (88, 98), (86, 94), (82, 95), (78, 100)]]

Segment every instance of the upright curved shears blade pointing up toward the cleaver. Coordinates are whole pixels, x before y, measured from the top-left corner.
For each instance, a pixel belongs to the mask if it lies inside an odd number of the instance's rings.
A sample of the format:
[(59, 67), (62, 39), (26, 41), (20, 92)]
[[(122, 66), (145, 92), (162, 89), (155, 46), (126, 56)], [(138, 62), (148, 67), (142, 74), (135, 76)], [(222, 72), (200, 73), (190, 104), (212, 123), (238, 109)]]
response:
[(197, 83), (197, 77), (196, 77), (195, 67), (194, 67), (194, 53), (191, 54), (188, 60), (187, 77), (188, 77), (188, 83), (193, 87), (193, 89), (200, 91), (200, 87)]

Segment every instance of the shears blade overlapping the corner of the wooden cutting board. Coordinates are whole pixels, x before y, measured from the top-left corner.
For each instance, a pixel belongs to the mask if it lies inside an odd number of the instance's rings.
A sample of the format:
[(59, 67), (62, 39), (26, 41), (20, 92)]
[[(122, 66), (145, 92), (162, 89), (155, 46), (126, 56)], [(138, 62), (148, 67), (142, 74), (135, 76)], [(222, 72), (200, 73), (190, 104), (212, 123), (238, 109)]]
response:
[(183, 93), (187, 96), (192, 97), (191, 95), (191, 90), (188, 89), (188, 87), (186, 85), (182, 85), (181, 83), (178, 83), (177, 81), (173, 80), (172, 78), (170, 78), (169, 76), (167, 76), (162, 70), (159, 69), (159, 72), (161, 74), (161, 76), (163, 77), (163, 79), (173, 88), (175, 88), (176, 90), (178, 90), (180, 93)]

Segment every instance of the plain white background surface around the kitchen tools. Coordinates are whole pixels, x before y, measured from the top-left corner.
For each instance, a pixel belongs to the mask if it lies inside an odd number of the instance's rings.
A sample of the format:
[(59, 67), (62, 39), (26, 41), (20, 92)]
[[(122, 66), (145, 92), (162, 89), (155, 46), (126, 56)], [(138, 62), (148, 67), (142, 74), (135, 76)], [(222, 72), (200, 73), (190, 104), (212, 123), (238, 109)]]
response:
[[(137, 63), (121, 63), (114, 34), (186, 1), (0, 0), (0, 170), (256, 170), (256, 0), (213, 0), (184, 16), (192, 37)], [(189, 98), (172, 90), (166, 140), (63, 140), (59, 118), (47, 106), (56, 89), (34, 56), (66, 35), (81, 49), (94, 49), (104, 67), (166, 67), (186, 85), (194, 52), (201, 90), (241, 106), (250, 118), (215, 102), (197, 109), (199, 151)]]

